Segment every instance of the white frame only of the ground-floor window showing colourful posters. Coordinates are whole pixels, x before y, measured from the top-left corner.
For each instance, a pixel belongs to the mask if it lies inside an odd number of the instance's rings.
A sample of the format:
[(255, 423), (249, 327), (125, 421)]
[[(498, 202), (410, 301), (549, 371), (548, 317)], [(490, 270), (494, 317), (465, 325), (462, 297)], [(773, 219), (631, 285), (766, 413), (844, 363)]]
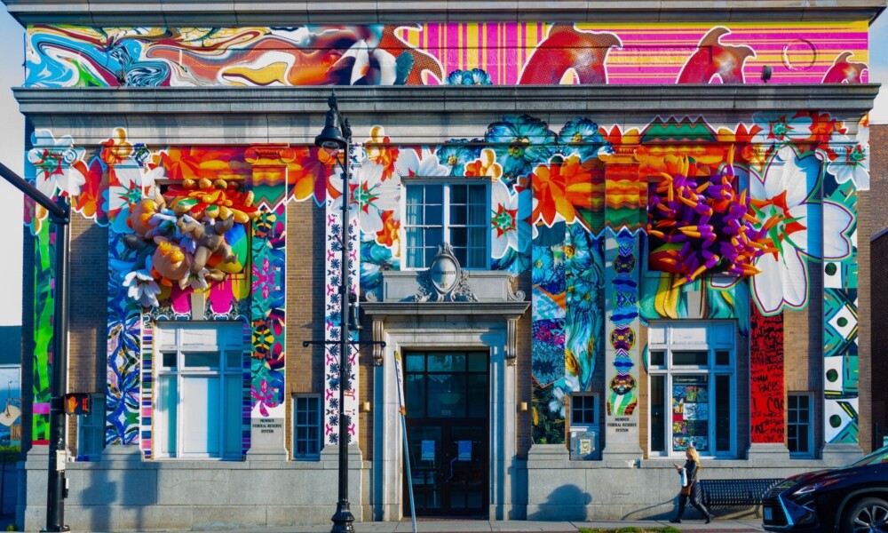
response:
[[(658, 331), (662, 330), (662, 336)], [(648, 365), (647, 386), (651, 391), (651, 379), (655, 376), (665, 377), (664, 399), (665, 408), (665, 451), (654, 451), (652, 435), (654, 434), (651, 418), (650, 402), (653, 394), (648, 394), (647, 449), (650, 457), (684, 457), (683, 450), (674, 450), (672, 446), (672, 392), (673, 380), (679, 376), (707, 376), (709, 389), (709, 434), (710, 442), (708, 450), (699, 450), (701, 457), (736, 457), (737, 455), (737, 349), (736, 349), (737, 325), (734, 321), (705, 321), (705, 320), (680, 320), (680, 321), (651, 321), (648, 326)], [(696, 336), (696, 337), (694, 337)], [(665, 351), (662, 365), (653, 364), (653, 352)], [(672, 363), (673, 351), (707, 351), (707, 363), (701, 365), (675, 365)], [(717, 352), (729, 352), (728, 364), (717, 364)], [(728, 397), (732, 399), (730, 409), (729, 427), (731, 428), (730, 449), (716, 450), (716, 378), (728, 376), (730, 390)]]

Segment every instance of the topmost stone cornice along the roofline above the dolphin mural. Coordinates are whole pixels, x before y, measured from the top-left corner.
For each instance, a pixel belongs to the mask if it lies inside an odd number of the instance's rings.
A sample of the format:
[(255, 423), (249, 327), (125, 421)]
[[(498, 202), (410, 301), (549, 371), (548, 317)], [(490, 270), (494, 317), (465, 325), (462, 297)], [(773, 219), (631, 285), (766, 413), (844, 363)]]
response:
[(429, 21), (873, 20), (884, 0), (3, 0), (22, 24), (289, 26)]

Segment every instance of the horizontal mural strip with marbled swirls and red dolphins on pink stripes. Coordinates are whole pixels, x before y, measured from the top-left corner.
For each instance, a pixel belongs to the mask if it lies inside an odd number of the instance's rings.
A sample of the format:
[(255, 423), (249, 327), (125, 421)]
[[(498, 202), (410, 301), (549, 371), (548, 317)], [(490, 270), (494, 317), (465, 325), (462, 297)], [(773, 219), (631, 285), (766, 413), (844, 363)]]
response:
[(28, 28), (32, 87), (867, 83), (868, 25)]

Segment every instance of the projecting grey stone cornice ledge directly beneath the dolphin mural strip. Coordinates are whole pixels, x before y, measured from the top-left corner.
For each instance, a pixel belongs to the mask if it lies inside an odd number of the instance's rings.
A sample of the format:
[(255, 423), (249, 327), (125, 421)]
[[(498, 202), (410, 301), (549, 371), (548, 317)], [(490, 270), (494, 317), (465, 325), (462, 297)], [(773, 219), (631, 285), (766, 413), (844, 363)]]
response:
[[(880, 84), (336, 87), (349, 117), (377, 114), (867, 111)], [(323, 115), (331, 88), (175, 87), (13, 90), (24, 115)]]

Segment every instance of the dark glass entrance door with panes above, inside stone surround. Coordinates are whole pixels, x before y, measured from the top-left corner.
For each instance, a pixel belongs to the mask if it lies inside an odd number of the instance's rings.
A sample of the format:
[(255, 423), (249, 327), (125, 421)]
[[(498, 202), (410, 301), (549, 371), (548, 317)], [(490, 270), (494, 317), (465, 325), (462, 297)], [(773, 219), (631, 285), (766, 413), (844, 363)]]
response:
[(410, 352), (404, 366), (416, 516), (486, 516), (488, 353)]

